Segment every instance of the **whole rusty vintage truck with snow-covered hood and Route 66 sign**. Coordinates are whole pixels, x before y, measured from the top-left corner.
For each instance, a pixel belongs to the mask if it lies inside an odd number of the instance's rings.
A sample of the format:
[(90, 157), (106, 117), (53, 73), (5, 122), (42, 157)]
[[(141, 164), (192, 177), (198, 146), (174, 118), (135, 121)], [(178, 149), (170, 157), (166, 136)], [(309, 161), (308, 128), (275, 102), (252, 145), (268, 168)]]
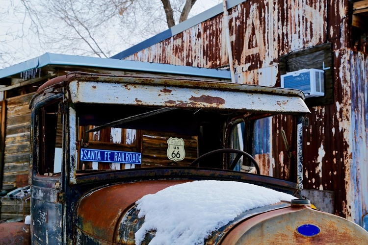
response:
[(32, 244), (368, 241), (300, 196), (301, 91), (76, 72), (30, 108)]

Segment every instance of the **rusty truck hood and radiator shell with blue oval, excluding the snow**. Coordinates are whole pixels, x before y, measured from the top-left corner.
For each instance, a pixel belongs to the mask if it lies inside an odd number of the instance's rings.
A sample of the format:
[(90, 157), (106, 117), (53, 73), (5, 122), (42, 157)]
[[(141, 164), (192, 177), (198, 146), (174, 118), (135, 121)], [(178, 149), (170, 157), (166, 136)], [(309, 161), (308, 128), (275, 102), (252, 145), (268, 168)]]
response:
[[(135, 244), (135, 235), (145, 225), (147, 218), (139, 215), (139, 202), (136, 202), (145, 195), (189, 181), (123, 183), (101, 188), (82, 197), (77, 208), (77, 244)], [(309, 201), (301, 200), (300, 204), (300, 200), (291, 200), (291, 204), (289, 201), (280, 201), (242, 211), (234, 220), (221, 224), (206, 235), (204, 244), (272, 244), (272, 241), (277, 241), (277, 244), (324, 244), (332, 240), (332, 244), (339, 241), (365, 244), (368, 241), (368, 233), (362, 227), (341, 217), (313, 210)], [(164, 211), (162, 216), (169, 217), (169, 210)], [(149, 244), (158, 237), (155, 228), (147, 229), (144, 234), (139, 244)]]

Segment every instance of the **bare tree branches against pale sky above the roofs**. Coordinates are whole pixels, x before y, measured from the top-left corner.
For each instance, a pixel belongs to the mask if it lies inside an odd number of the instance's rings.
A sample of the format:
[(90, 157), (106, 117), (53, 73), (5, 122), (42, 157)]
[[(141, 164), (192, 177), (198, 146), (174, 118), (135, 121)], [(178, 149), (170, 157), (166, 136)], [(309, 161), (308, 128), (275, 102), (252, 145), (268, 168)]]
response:
[(199, 1), (219, 0), (6, 0), (0, 66), (44, 52), (110, 57), (184, 21)]

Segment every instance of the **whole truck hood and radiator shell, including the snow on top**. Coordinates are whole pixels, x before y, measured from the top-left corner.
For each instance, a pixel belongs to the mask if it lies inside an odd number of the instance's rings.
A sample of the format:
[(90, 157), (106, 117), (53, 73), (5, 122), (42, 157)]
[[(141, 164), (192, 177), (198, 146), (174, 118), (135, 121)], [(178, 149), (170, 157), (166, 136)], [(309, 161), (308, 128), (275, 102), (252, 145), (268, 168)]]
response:
[(133, 245), (155, 240), (154, 244), (232, 245), (368, 241), (368, 233), (355, 223), (313, 210), (308, 200), (292, 198), (236, 181), (155, 180), (106, 186), (81, 198), (76, 242)]

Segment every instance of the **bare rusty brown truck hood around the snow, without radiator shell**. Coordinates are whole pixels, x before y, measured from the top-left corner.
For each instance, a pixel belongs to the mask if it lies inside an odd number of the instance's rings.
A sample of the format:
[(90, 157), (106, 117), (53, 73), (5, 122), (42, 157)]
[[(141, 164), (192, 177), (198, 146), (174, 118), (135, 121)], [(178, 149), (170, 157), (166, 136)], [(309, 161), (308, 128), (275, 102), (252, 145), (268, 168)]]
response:
[[(144, 217), (138, 217), (136, 201), (148, 194), (155, 194), (169, 186), (189, 182), (190, 180), (155, 180), (122, 183), (93, 191), (81, 198), (76, 217), (77, 239), (88, 243), (86, 236), (94, 242), (135, 244), (134, 234), (143, 225)], [(289, 206), (288, 202), (279, 202), (259, 208), (253, 208), (240, 214), (235, 220), (213, 231), (207, 244), (218, 244), (238, 222), (257, 214)], [(149, 242), (155, 232), (148, 232), (145, 242)], [(84, 238), (81, 238), (84, 237)]]

